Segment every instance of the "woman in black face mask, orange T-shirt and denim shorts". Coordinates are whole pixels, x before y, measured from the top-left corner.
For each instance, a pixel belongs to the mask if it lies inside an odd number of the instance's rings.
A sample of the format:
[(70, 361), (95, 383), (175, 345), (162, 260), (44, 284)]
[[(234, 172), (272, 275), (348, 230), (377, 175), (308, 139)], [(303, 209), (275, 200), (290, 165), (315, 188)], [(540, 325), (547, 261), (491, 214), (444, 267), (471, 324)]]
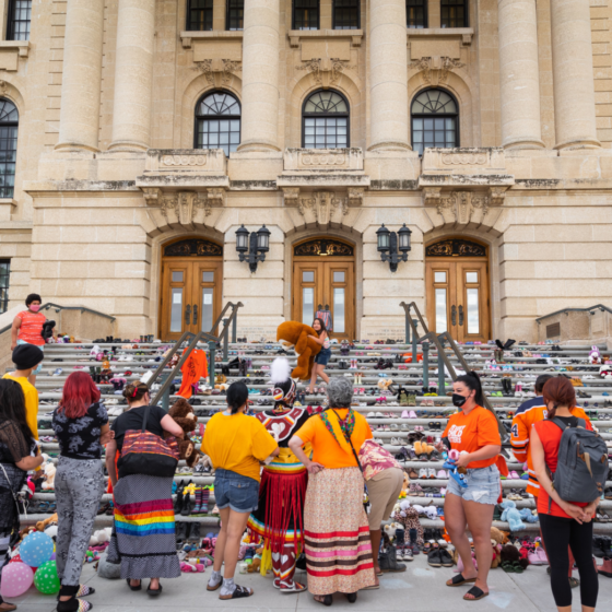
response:
[[(444, 502), (446, 530), (463, 562), (463, 572), (446, 584), (458, 587), (475, 582), (463, 599), (475, 601), (489, 595), (486, 578), (491, 568), (491, 525), (493, 509), (499, 496), (499, 471), (495, 460), (502, 448), (495, 415), (482, 407), (482, 386), (475, 372), (459, 376), (452, 384), (452, 403), (461, 411), (454, 414), (446, 425), (443, 442), (461, 455), (458, 468), (466, 471), (468, 486), (449, 480)], [(442, 448), (442, 443), (438, 449)], [(474, 541), (478, 572), (472, 562), (470, 541), (466, 528)]]

